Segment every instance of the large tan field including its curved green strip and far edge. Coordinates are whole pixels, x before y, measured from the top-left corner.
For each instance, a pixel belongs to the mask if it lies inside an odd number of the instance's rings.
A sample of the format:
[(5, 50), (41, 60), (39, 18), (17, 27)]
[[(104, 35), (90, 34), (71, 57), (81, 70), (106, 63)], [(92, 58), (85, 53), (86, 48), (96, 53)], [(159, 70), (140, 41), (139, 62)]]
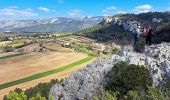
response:
[(15, 88), (26, 89), (51, 79), (65, 78), (92, 59), (53, 42), (42, 46), (34, 43), (3, 53), (0, 55), (0, 99)]

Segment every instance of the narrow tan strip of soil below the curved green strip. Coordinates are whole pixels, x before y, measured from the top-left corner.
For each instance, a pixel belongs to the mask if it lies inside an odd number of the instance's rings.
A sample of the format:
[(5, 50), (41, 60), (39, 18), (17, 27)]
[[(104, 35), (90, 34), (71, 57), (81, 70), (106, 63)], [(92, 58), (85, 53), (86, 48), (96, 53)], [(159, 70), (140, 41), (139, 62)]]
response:
[(87, 64), (91, 63), (94, 60), (95, 59), (93, 59), (91, 61), (88, 61), (88, 62), (86, 62), (84, 64), (81, 64), (79, 66), (73, 67), (73, 68), (71, 68), (69, 70), (59, 72), (57, 74), (49, 75), (49, 76), (44, 77), (44, 78), (36, 79), (36, 80), (30, 81), (30, 82), (26, 82), (26, 83), (23, 83), (23, 84), (15, 85), (15, 86), (0, 90), (0, 100), (3, 99), (4, 95), (8, 94), (10, 91), (14, 90), (15, 88), (22, 88), (23, 90), (25, 90), (25, 89), (27, 89), (29, 87), (33, 87), (33, 86), (37, 85), (38, 83), (49, 82), (51, 79), (66, 78), (66, 77), (68, 77), (70, 75), (70, 73), (72, 73), (72, 72), (74, 72), (74, 71), (76, 71), (78, 69), (84, 68)]

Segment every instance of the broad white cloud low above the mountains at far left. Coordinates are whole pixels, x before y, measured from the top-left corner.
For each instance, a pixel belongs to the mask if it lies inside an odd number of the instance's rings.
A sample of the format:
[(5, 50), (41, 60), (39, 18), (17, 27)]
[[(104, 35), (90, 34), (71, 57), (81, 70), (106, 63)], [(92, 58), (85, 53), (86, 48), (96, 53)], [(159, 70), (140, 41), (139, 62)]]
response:
[(37, 16), (38, 14), (33, 13), (28, 10), (21, 10), (17, 8), (4, 8), (0, 9), (0, 16), (11, 16), (11, 17), (21, 17), (21, 16)]

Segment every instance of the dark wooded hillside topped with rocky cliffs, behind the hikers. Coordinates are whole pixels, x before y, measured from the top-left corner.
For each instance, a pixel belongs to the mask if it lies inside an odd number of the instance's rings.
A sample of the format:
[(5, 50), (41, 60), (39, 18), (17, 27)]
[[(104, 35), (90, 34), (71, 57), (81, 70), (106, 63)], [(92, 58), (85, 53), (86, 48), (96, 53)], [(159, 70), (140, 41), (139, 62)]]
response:
[[(104, 21), (76, 34), (96, 39), (101, 42), (114, 41), (118, 44), (128, 44), (132, 40), (133, 30), (142, 36), (145, 28), (151, 25), (155, 37), (154, 43), (170, 41), (169, 12), (149, 12), (141, 14), (118, 14), (107, 16)], [(165, 31), (164, 31), (165, 30)], [(161, 36), (161, 38), (160, 38)]]

